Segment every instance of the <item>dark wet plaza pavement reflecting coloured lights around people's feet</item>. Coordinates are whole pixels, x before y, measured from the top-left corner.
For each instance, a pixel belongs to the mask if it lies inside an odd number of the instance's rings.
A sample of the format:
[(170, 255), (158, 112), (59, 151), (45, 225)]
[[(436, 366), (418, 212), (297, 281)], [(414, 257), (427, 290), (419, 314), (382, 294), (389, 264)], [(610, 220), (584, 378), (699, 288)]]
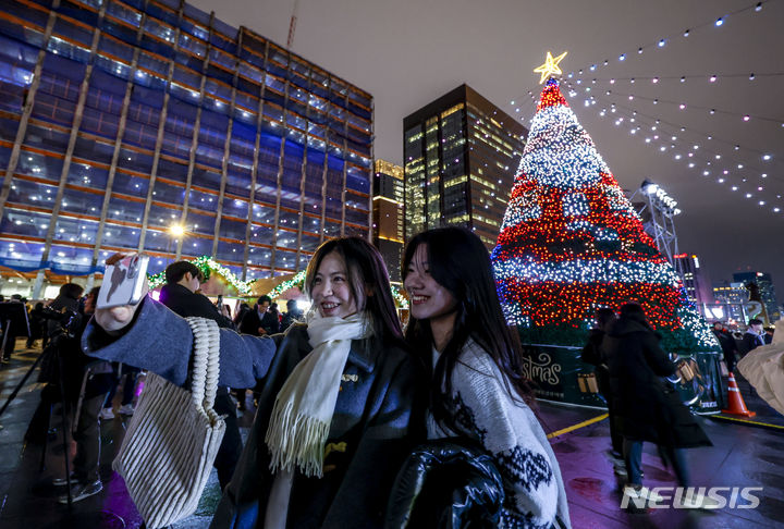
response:
[[(33, 365), (39, 350), (24, 349), (17, 342), (11, 364), (0, 368), (0, 406)], [(64, 448), (60, 416), (54, 415), (52, 427), (57, 431), (46, 446), (41, 469), (42, 446), (24, 441), (33, 413), (40, 399), (40, 384), (34, 373), (19, 396), (0, 416), (0, 528), (138, 528), (143, 520), (127, 495), (125, 484), (111, 469), (111, 460), (120, 446), (127, 418), (115, 418), (101, 425), (100, 473), (103, 491), (73, 504), (60, 505), (57, 499), (64, 488), (51, 484), (54, 477), (65, 475)], [(767, 406), (743, 380), (738, 380), (749, 409), (758, 413), (750, 419), (760, 427), (734, 420), (700, 417), (703, 429), (713, 442), (710, 448), (687, 451), (694, 487), (758, 487), (752, 491), (759, 497), (757, 508), (718, 510), (687, 510), (674, 508), (621, 508), (624, 480), (614, 475), (612, 463), (604, 453), (610, 447), (607, 419), (580, 426), (551, 439), (558, 456), (566, 493), (569, 500), (572, 526), (575, 529), (597, 528), (755, 528), (784, 527), (784, 417)], [(248, 405), (252, 405), (248, 398)], [(603, 411), (591, 408), (565, 407), (547, 402), (539, 403), (539, 416), (548, 432), (561, 432), (600, 417)], [(253, 410), (241, 418), (247, 428)], [(773, 428), (777, 427), (777, 428)], [(73, 446), (69, 447), (73, 455)], [(662, 464), (657, 448), (645, 444), (642, 456), (644, 484), (674, 487), (673, 473)], [(723, 493), (730, 497), (730, 492)], [(174, 526), (175, 529), (206, 528), (220, 499), (216, 472), (212, 472), (196, 514)], [(743, 499), (738, 506), (748, 504)]]

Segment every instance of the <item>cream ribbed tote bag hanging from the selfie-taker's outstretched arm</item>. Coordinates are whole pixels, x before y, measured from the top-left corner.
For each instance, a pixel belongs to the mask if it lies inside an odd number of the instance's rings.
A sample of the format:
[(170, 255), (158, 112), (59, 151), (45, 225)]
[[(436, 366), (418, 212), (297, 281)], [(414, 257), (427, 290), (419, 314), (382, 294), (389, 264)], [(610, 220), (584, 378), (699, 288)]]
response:
[(150, 529), (191, 516), (220, 447), (225, 422), (215, 404), (218, 324), (186, 318), (194, 333), (191, 391), (149, 373), (112, 468)]

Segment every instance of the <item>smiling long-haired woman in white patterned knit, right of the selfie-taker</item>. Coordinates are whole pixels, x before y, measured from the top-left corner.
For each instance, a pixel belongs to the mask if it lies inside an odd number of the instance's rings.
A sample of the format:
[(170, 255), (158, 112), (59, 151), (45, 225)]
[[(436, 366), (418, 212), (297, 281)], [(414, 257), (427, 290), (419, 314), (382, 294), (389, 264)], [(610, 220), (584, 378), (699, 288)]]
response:
[(428, 439), (481, 444), (503, 478), (500, 527), (571, 527), (561, 470), (530, 406), (519, 343), (506, 325), (490, 258), (461, 227), (416, 235), (403, 259), (406, 339), (431, 367)]

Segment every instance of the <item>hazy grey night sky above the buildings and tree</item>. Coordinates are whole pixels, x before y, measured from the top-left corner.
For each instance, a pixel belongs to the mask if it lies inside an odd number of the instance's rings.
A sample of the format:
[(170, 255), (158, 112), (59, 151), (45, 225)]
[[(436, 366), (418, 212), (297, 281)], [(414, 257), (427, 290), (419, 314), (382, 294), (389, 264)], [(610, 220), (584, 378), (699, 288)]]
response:
[[(191, 3), (283, 46), (294, 8), (294, 0)], [(547, 51), (568, 51), (561, 62), (563, 82), (569, 81), (568, 72), (575, 73), (572, 82), (584, 81), (575, 85), (577, 95), (569, 96), (564, 85), (562, 91), (621, 185), (636, 189), (644, 179), (662, 185), (683, 210), (676, 218), (681, 251), (696, 254), (714, 283), (731, 280), (734, 271), (770, 272), (781, 302), (784, 0), (762, 2), (760, 11), (756, 3), (301, 0), (292, 51), (372, 94), (376, 157), (395, 163), (403, 161), (403, 118), (462, 83), (528, 126), (535, 111), (528, 93), (538, 98), (541, 89), (532, 70)], [(715, 25), (719, 17), (721, 26)], [(585, 107), (586, 86), (596, 99), (590, 107)], [(632, 110), (637, 111), (634, 124)], [(620, 116), (624, 122), (615, 125)], [(641, 130), (632, 135), (633, 126)], [(764, 155), (772, 158), (765, 161)], [(781, 211), (774, 213), (774, 207)]]

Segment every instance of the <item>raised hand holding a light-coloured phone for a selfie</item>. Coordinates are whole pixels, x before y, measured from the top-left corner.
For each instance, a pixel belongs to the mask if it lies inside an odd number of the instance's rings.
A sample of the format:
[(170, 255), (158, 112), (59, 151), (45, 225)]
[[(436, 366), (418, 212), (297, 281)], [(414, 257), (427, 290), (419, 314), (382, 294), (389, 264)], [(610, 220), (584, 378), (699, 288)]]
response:
[(105, 331), (120, 331), (133, 320), (147, 295), (149, 256), (114, 254), (107, 259), (103, 283), (98, 292), (95, 320)]

